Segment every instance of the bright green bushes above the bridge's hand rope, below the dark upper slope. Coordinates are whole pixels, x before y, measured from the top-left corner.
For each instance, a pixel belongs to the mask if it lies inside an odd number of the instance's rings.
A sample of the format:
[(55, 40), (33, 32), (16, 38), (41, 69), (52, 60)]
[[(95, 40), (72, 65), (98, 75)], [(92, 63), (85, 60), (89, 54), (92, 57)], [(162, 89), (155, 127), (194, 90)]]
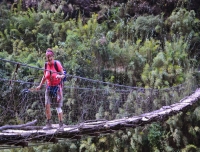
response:
[(1, 5), (2, 58), (43, 67), (45, 50), (53, 48), (71, 74), (151, 88), (178, 85), (198, 66), (198, 53), (191, 52), (191, 41), (197, 43), (199, 37), (193, 10), (125, 18), (122, 5), (112, 8), (101, 24), (97, 14), (83, 24), (81, 14), (65, 20), (59, 8), (23, 11), (17, 6), (9, 10)]

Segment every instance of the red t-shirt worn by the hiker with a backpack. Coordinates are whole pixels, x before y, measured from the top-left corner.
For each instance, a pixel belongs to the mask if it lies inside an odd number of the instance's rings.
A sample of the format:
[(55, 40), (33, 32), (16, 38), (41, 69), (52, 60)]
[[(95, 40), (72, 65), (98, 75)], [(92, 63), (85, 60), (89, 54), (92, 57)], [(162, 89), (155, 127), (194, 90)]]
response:
[[(63, 67), (60, 64), (60, 62), (56, 61), (56, 64), (58, 67), (58, 72), (62, 71)], [(51, 70), (51, 72), (49, 70)], [(58, 73), (54, 67), (54, 61), (53, 63), (49, 63), (49, 62), (47, 63), (46, 70), (44, 71), (44, 75), (45, 75), (48, 86), (56, 86), (60, 84), (61, 79), (56, 78)]]

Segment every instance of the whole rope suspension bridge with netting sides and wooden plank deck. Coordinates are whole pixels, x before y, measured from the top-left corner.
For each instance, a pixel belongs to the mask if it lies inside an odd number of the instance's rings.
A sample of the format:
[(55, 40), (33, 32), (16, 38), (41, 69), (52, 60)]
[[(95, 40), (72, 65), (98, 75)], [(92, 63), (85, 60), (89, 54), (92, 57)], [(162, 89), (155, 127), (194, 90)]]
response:
[[(187, 110), (200, 98), (198, 85), (187, 81), (166, 89), (113, 84), (67, 74), (64, 84), (64, 130), (45, 124), (44, 88), (34, 91), (43, 68), (0, 58), (0, 145), (28, 146), (29, 142), (80, 139), (164, 121)], [(25, 77), (32, 73), (34, 77)], [(37, 77), (36, 77), (37, 76)], [(7, 122), (5, 124), (4, 122)], [(9, 124), (9, 125), (8, 125)]]

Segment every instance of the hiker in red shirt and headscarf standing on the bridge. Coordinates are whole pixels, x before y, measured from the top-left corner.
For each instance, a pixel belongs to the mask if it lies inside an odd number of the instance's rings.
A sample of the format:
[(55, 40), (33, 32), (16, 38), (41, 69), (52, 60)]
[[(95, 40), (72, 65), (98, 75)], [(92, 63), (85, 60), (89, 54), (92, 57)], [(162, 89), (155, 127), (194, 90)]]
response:
[(54, 52), (52, 49), (48, 48), (46, 50), (45, 70), (42, 80), (37, 86), (37, 90), (40, 90), (44, 82), (46, 81), (46, 91), (45, 91), (45, 114), (46, 114), (46, 126), (44, 130), (52, 129), (51, 121), (51, 105), (56, 107), (59, 120), (59, 129), (63, 129), (63, 91), (62, 91), (62, 79), (65, 77), (63, 67), (61, 63), (54, 60)]

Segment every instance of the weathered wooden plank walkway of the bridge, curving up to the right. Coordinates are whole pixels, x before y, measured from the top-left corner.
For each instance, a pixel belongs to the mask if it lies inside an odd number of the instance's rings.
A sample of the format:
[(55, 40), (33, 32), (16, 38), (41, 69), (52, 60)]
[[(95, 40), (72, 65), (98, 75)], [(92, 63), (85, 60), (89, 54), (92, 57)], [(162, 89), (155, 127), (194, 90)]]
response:
[[(0, 144), (28, 146), (28, 142), (44, 141), (58, 142), (58, 138), (80, 139), (83, 135), (98, 136), (100, 134), (113, 133), (116, 130), (135, 128), (137, 126), (149, 124), (155, 121), (163, 121), (180, 111), (187, 110), (200, 98), (200, 89), (192, 95), (185, 97), (178, 103), (164, 106), (159, 110), (145, 113), (139, 116), (116, 120), (94, 120), (77, 125), (64, 126), (63, 131), (58, 131), (58, 124), (54, 124), (54, 129), (42, 130), (42, 126), (21, 125), (18, 129), (11, 126), (0, 127)], [(36, 122), (36, 121), (35, 121)], [(33, 123), (35, 123), (33, 122)], [(30, 123), (32, 124), (32, 123)], [(9, 129), (5, 129), (9, 128)]]

